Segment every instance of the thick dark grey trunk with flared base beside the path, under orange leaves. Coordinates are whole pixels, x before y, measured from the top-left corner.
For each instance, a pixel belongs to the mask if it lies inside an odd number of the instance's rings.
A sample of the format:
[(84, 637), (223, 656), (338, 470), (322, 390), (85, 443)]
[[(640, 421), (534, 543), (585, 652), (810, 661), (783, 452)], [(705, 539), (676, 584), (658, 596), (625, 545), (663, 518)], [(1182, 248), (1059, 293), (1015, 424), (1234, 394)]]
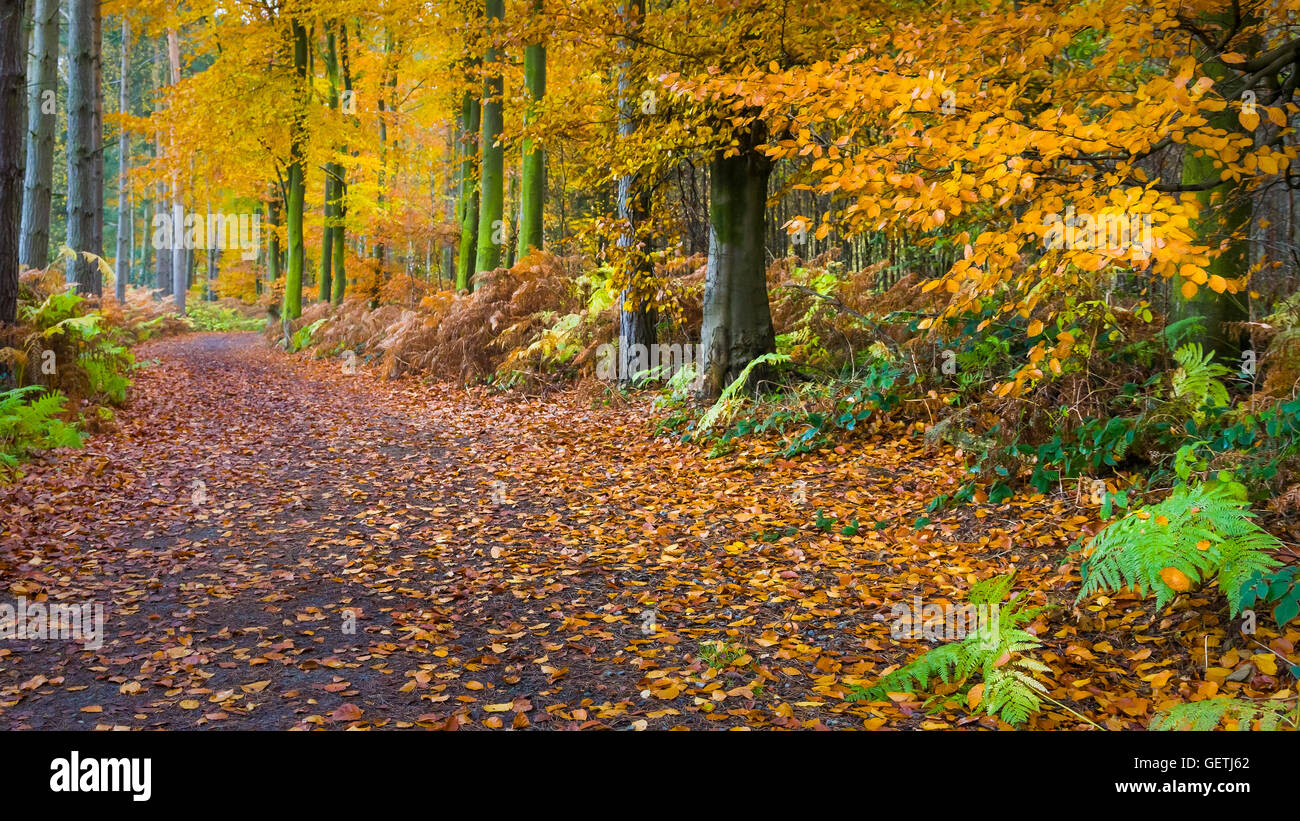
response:
[(763, 229), (771, 161), (754, 147), (758, 125), (740, 155), (714, 155), (708, 174), (708, 266), (701, 330), (705, 396), (718, 396), (749, 362), (776, 349), (767, 303)]

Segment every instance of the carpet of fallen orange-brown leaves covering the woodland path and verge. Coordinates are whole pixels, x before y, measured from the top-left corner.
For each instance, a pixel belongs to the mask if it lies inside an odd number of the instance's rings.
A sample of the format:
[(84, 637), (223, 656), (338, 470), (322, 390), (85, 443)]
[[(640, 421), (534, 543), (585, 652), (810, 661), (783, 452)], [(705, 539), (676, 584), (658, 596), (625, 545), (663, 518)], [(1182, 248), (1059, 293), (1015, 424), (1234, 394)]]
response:
[(107, 614), (98, 650), (0, 643), (0, 726), (1005, 727), (845, 696), (930, 646), (890, 639), (894, 603), (1013, 569), (1061, 605), (1032, 629), (1069, 709), (1037, 729), (1277, 692), (1300, 660), (1266, 618), (1230, 647), (1212, 591), (1075, 608), (1067, 548), (1098, 525), (1072, 494), (914, 529), (962, 469), (919, 431), (708, 459), (655, 436), (649, 399), (386, 382), (254, 335), (138, 357), (114, 430), (0, 487), (5, 600)]

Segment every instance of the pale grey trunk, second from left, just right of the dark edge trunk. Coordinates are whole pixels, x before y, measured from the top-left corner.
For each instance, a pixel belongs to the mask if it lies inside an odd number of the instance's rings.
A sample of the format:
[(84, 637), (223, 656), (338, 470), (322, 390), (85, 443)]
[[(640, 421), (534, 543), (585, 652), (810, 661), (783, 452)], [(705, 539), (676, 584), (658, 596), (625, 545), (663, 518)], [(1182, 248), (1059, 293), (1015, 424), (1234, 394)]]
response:
[(55, 179), (55, 125), (58, 121), (58, 0), (36, 0), (32, 52), (27, 64), (27, 161), (22, 191), (22, 246), (27, 268), (49, 264), (49, 203)]

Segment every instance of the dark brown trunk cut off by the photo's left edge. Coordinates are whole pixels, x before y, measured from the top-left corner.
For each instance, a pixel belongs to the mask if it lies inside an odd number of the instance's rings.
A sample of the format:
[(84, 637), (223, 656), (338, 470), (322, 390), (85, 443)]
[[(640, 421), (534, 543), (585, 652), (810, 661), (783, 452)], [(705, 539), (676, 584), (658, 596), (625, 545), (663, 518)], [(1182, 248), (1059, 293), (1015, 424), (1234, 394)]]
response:
[(27, 88), (23, 3), (0, 5), (0, 326), (18, 322), (22, 112)]

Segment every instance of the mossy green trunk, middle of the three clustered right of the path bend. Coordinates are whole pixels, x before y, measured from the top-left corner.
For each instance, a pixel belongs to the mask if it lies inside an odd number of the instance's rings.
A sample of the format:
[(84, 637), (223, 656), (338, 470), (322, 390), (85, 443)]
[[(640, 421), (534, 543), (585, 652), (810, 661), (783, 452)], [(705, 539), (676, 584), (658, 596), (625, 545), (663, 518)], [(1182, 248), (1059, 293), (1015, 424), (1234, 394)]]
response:
[[(484, 9), (489, 19), (504, 19), (506, 0), (485, 0)], [(482, 134), (478, 149), (478, 252), (474, 255), (474, 268), (480, 272), (494, 270), (500, 265), (500, 251), (504, 243), (503, 208), (506, 199), (504, 162), (506, 147), (500, 143), (502, 133), (502, 94), (504, 83), (500, 74), (500, 51), (491, 45), (484, 60), (488, 77), (484, 79)]]

